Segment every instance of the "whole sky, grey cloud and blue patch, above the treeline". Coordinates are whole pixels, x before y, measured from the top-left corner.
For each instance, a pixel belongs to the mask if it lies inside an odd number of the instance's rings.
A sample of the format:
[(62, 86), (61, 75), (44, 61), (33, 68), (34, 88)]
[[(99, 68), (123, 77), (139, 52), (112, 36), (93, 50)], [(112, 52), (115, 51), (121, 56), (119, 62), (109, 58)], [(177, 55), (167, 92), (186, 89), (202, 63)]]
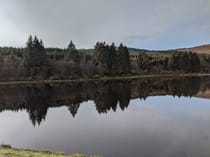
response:
[(0, 0), (0, 46), (92, 48), (97, 41), (166, 50), (210, 43), (210, 0)]

